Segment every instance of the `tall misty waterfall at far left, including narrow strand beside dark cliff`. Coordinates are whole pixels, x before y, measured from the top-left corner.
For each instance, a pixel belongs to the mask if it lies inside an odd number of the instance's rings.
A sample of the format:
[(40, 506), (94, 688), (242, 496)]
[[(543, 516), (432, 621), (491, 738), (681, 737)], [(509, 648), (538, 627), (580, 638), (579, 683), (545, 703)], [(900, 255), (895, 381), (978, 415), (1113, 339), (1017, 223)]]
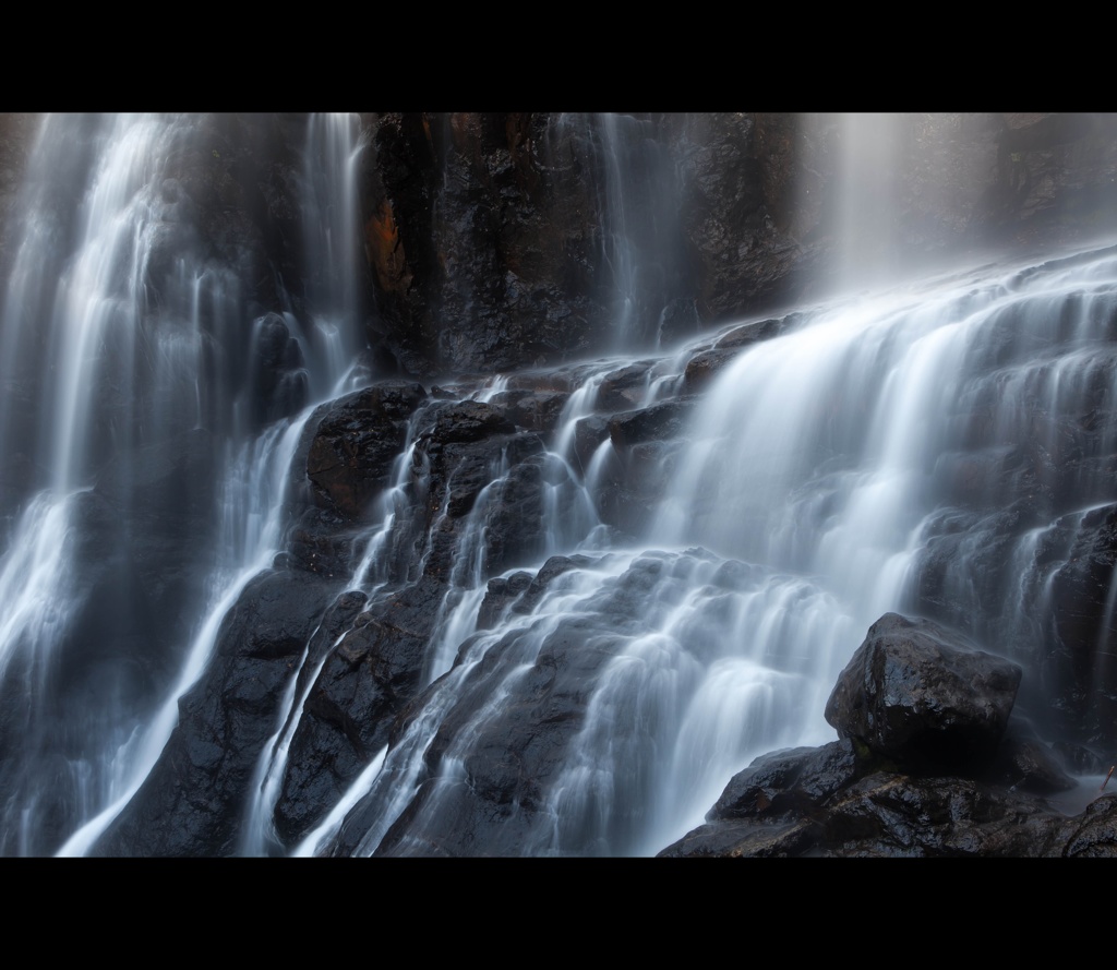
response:
[[(238, 384), (251, 387), (258, 367), (255, 348), (240, 350), (247, 267), (207, 255), (178, 168), (207, 151), (203, 121), (47, 116), (29, 164), (37, 178), (0, 336), (0, 443), (32, 469), (4, 510), (13, 525), (0, 572), (6, 854), (93, 843), (159, 757), (237, 593), (279, 545), (288, 465), (312, 409), (244, 437)], [(352, 236), (354, 120), (311, 125), (307, 222), (332, 219)], [(323, 141), (334, 181), (350, 187), (328, 218)], [(355, 313), (354, 274), (338, 272)], [(318, 394), (355, 356), (332, 349), (354, 321), (338, 304), (323, 313), (322, 346), (289, 354)], [(281, 325), (271, 333), (288, 339)], [(160, 542), (179, 543), (182, 561)], [(159, 555), (189, 578), (153, 582), (143, 559)]]

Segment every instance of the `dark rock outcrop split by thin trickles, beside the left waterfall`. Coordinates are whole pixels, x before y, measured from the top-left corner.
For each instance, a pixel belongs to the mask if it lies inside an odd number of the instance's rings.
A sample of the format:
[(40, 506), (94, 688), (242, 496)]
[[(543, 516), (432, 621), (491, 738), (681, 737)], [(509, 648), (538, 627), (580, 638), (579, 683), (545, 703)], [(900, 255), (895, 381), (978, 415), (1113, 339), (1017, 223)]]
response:
[[(97, 854), (238, 852), (246, 834), (237, 806), (259, 784), (259, 752), (297, 678), (306, 701), (274, 812), (276, 836), (290, 848), (429, 682), (430, 644), (462, 591), (537, 559), (543, 546), (543, 491), (558, 469), (544, 475), (540, 436), (493, 405), (384, 381), (323, 406), (297, 454), (304, 474), (288, 501), (287, 548), (226, 617), (159, 764)], [(375, 521), (374, 502), (392, 487), (401, 488), (399, 531), (366, 599), (344, 583), (365, 552), (354, 542), (359, 527)]]

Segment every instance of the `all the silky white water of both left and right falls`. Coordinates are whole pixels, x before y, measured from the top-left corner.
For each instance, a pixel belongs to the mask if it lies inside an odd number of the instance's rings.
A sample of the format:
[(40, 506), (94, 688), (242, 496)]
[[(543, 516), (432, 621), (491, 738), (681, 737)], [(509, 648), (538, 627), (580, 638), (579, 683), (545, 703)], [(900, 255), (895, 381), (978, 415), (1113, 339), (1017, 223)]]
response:
[[(602, 150), (619, 151), (622, 125), (594, 124)], [(302, 398), (292, 399), (303, 403), (275, 419), (246, 410), (251, 345), (230, 350), (247, 312), (244, 267), (192, 245), (168, 168), (195, 137), (190, 116), (51, 116), (30, 167), (0, 332), (0, 446), (6, 460), (34, 456), (0, 534), (6, 855), (84, 854), (127, 805), (226, 614), (284, 546), (290, 463), (314, 407), (374, 377), (352, 365), (361, 345), (346, 248), (356, 232), (355, 118), (316, 115), (307, 129), (304, 258), (315, 310), (302, 323), (280, 315), (280, 332), (298, 345), (290, 379)], [(604, 193), (615, 229), (605, 255), (618, 267), (619, 312), (629, 314), (639, 251), (617, 235), (626, 216), (618, 179)], [(1032, 669), (1050, 630), (1052, 583), (1117, 503), (1106, 460), (1117, 447), (1115, 318), (1117, 249), (1108, 246), (801, 307), (779, 336), (742, 350), (686, 431), (649, 459), (661, 488), (639, 539), (619, 539), (598, 506), (621, 474), (611, 439), (588, 459), (576, 445), (579, 422), (608, 413), (605, 379), (637, 358), (585, 362), (541, 458), (537, 561), (496, 577), (486, 563), (487, 512), (509, 487), (505, 456), (461, 526), (424, 648), (421, 703), (285, 845), (273, 814), (292, 738), (323, 665), (352, 633), (316, 630), (256, 755), (239, 850), (651, 855), (699, 825), (755, 757), (833, 739), (827, 696), (888, 610), (934, 614)], [(274, 339), (278, 325), (256, 321), (250, 340)], [(671, 400), (690, 356), (732, 329), (651, 350), (645, 333), (639, 359), (650, 365), (638, 406)], [(506, 382), (461, 396), (494, 399)], [(359, 595), (366, 609), (414, 580), (400, 577), (399, 550), (432, 541), (417, 532), (412, 507), (427, 487), (416, 455), (421, 416), (342, 583), (342, 596)], [(1088, 445), (1073, 435), (1083, 416)], [(126, 563), (108, 587), (89, 579), (88, 563), (116, 554), (121, 510), (125, 527), (142, 529), (132, 516), (172, 488), (152, 477), (151, 455), (168, 441), (212, 469), (211, 487), (193, 496), (212, 510), (212, 555), (179, 592), (181, 615), (195, 621), (181, 622), (152, 658), (142, 653), (150, 630), (116, 590), (132, 579)], [(1047, 479), (1022, 451), (1041, 456)], [(98, 473), (108, 454), (126, 457)], [(182, 483), (174, 487), (182, 501)], [(560, 562), (545, 584), (478, 625), (489, 580), (538, 577)], [(98, 602), (106, 592), (117, 597), (107, 606)], [(1110, 590), (1099, 658), (1111, 647), (1115, 601)], [(92, 625), (120, 654), (82, 655), (76, 625)], [(519, 712), (544, 677), (577, 698), (582, 716), (543, 759), (531, 799), (505, 806), (490, 841), (456, 843), (475, 797), (471, 759), (523, 729)]]

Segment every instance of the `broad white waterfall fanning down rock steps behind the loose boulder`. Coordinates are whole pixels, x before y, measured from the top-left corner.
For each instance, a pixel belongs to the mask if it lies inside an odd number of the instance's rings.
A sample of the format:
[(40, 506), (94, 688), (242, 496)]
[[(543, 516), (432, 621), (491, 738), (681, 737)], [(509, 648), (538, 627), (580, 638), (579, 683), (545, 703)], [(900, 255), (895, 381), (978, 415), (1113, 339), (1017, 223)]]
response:
[[(1114, 320), (1111, 248), (801, 310), (706, 392), (634, 546), (570, 541), (541, 597), (464, 638), (333, 837), (370, 855), (651, 854), (756, 755), (833, 736), (827, 696), (882, 612), (935, 616), (1042, 666), (1054, 608), (1030, 590), (1049, 589), (1117, 501)], [(560, 447), (623, 363), (591, 369)], [(1097, 426), (1070, 441), (1062, 429), (1087, 411)], [(526, 730), (542, 683), (585, 697), (581, 726), (546, 771), (514, 748), (545, 783), (476, 845), (464, 820), (477, 789), (517, 790), (478, 752), (514, 743), (502, 739)]]

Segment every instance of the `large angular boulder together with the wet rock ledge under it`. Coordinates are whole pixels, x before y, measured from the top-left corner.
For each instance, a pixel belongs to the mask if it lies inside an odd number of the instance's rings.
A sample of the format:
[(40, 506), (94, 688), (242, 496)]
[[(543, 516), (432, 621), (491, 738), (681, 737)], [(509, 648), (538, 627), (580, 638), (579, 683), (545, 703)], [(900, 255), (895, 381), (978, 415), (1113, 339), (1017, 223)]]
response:
[(1117, 856), (1117, 791), (1079, 815), (1068, 770), (1013, 710), (1020, 668), (929, 620), (886, 614), (825, 707), (839, 740), (757, 758), (660, 857)]

